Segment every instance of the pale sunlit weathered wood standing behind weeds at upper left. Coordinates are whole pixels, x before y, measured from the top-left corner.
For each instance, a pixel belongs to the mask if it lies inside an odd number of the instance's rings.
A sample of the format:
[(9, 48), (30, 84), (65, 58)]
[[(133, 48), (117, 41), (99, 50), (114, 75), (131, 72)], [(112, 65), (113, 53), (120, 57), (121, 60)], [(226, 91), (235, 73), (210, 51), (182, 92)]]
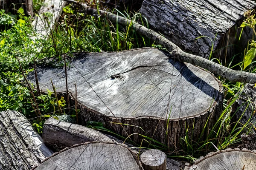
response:
[[(38, 33), (38, 36), (34, 38), (45, 38), (49, 36), (51, 30), (55, 28), (55, 23), (58, 23), (65, 4), (66, 2), (62, 0), (44, 1), (44, 5), (40, 8), (38, 15), (32, 22), (32, 26), (34, 26), (36, 33)], [(45, 16), (48, 17), (46, 18)]]

